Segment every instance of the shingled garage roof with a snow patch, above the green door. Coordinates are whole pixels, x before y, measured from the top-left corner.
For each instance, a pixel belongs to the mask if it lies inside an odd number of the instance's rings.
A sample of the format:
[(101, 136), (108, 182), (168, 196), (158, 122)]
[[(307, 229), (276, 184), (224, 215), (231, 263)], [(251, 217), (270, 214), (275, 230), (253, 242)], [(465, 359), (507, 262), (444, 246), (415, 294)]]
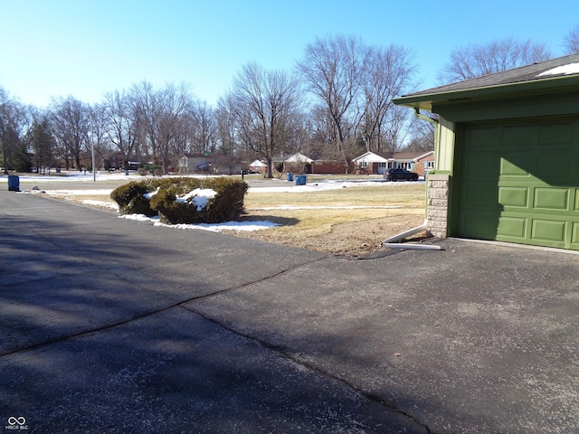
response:
[(463, 99), (496, 99), (514, 94), (564, 92), (579, 87), (579, 52), (508, 71), (462, 80), (393, 99), (394, 104), (432, 110), (432, 104)]

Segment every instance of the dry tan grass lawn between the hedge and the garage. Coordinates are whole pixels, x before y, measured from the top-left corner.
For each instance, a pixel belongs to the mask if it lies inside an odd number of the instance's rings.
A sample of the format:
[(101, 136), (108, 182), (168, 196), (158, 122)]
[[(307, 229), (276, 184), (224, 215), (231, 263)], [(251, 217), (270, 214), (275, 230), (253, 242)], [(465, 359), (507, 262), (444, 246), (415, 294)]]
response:
[(243, 219), (281, 225), (236, 235), (329, 254), (361, 256), (380, 250), (385, 239), (421, 225), (424, 201), (424, 184), (414, 183), (378, 183), (312, 193), (250, 192)]

